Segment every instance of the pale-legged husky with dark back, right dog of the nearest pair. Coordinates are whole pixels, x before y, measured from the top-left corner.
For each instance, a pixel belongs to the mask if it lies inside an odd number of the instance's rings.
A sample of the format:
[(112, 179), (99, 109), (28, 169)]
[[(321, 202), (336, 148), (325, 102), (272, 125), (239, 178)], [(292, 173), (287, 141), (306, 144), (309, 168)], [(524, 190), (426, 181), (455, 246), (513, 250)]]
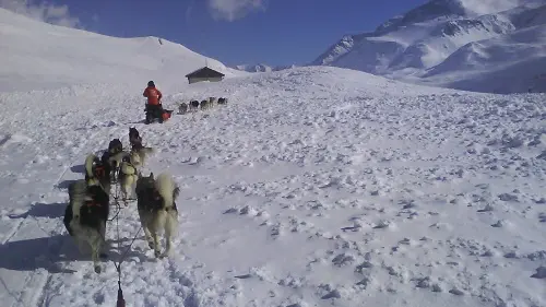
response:
[[(154, 249), (156, 258), (169, 256), (171, 238), (178, 231), (178, 210), (175, 200), (180, 189), (173, 177), (166, 173), (159, 174), (154, 179), (154, 174), (149, 177), (139, 175), (136, 180), (138, 211), (142, 228), (150, 248)], [(159, 252), (159, 232), (165, 232), (165, 253)]]

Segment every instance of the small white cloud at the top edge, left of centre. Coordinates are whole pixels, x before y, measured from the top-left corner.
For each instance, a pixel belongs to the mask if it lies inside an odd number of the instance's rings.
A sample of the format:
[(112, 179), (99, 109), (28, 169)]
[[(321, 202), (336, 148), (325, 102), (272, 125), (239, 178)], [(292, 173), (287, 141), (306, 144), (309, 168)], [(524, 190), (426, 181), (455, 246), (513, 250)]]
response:
[(252, 11), (265, 10), (264, 0), (209, 0), (209, 10), (216, 20), (233, 22)]

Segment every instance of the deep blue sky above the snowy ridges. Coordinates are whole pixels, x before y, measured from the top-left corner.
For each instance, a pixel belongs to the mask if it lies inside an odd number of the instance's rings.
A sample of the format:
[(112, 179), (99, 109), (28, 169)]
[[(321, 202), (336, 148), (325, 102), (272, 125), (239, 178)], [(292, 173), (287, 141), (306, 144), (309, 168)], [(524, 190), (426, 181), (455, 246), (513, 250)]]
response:
[(276, 66), (310, 62), (343, 35), (372, 31), (426, 0), (0, 0), (0, 5), (10, 2), (100, 34), (163, 37), (229, 66)]

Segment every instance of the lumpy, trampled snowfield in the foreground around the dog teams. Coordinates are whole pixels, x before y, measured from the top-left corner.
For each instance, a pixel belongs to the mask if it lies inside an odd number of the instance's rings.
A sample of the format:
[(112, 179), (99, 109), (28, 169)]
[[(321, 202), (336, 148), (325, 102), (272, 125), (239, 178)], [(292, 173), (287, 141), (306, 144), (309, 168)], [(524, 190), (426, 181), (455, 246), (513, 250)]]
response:
[[(455, 93), (337, 68), (198, 83), (229, 104), (145, 126), (117, 85), (0, 93), (2, 306), (115, 306), (62, 225), (70, 180), (136, 127), (181, 187), (174, 257), (142, 234), (127, 306), (545, 306), (544, 95)], [(47, 99), (45, 101), (45, 97)], [(121, 246), (139, 229), (120, 213)]]

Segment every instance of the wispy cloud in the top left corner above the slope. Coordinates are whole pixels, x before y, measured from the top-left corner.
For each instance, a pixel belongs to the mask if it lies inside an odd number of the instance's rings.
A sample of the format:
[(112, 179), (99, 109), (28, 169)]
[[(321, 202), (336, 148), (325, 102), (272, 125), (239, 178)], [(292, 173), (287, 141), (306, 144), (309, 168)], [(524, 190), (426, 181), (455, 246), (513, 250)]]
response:
[(70, 15), (67, 5), (56, 5), (36, 0), (0, 0), (0, 8), (8, 9), (34, 20), (68, 27), (80, 27), (80, 20)]

